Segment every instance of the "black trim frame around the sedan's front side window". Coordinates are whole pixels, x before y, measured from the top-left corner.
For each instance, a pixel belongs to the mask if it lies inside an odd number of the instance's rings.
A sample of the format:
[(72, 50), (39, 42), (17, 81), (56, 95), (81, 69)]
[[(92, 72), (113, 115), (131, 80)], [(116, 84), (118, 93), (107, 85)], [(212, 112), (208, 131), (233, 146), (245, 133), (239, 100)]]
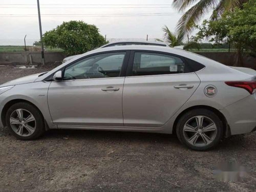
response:
[[(58, 71), (61, 71), (62, 72), (62, 80), (61, 81), (56, 81), (56, 82), (62, 82), (62, 81), (74, 81), (74, 80), (93, 80), (93, 79), (71, 79), (71, 80), (63, 80), (63, 77), (64, 77), (64, 73), (65, 73), (65, 69), (71, 65), (73, 65), (75, 62), (78, 62), (82, 59), (86, 59), (88, 57), (91, 57), (91, 56), (95, 56), (95, 55), (101, 55), (101, 54), (108, 54), (108, 53), (125, 53), (125, 56), (124, 56), (124, 59), (123, 59), (123, 64), (122, 64), (122, 67), (121, 67), (121, 71), (120, 71), (120, 75), (118, 77), (103, 77), (103, 78), (93, 78), (94, 80), (96, 79), (109, 79), (109, 78), (120, 78), (120, 77), (125, 77), (125, 74), (126, 74), (126, 69), (127, 69), (127, 66), (128, 66), (128, 61), (129, 61), (129, 58), (130, 58), (130, 55), (131, 55), (131, 51), (130, 50), (115, 50), (115, 51), (103, 51), (103, 52), (98, 52), (98, 53), (94, 53), (94, 54), (90, 54), (90, 55), (86, 55), (84, 57), (81, 57), (79, 59), (76, 59), (74, 60), (73, 62), (69, 63), (68, 65), (66, 66), (63, 66), (62, 68), (60, 68)], [(52, 81), (52, 82), (55, 82), (52, 77), (53, 75), (56, 73), (57, 71), (55, 71), (54, 73), (52, 73), (51, 75), (49, 75), (48, 77), (46, 77), (44, 80), (42, 81)], [(50, 79), (51, 78), (51, 79)]]

